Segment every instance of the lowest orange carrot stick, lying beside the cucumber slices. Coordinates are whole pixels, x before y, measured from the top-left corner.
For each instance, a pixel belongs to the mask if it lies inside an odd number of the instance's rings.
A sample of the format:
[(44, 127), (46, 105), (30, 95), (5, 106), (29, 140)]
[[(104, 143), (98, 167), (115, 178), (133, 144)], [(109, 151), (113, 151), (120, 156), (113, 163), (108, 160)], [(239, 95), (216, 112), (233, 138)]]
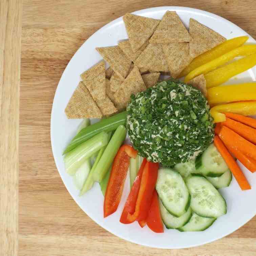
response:
[(233, 173), (238, 185), (240, 186), (241, 190), (251, 189), (250, 184), (248, 183), (246, 177), (243, 175), (243, 172), (237, 165), (236, 161), (229, 153), (223, 142), (220, 140), (218, 136), (215, 135), (214, 137), (214, 145), (224, 158), (225, 162), (227, 163), (230, 171)]

